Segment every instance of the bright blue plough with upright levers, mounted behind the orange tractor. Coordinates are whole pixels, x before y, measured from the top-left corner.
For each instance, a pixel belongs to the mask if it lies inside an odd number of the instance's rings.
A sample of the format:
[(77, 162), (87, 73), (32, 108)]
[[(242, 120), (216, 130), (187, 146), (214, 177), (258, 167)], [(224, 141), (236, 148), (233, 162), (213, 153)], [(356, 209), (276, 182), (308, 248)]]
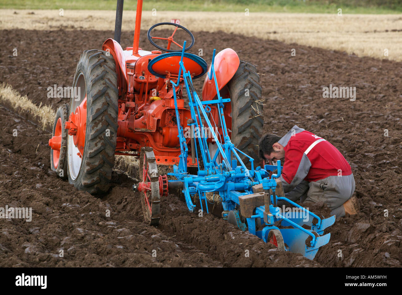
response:
[[(169, 182), (183, 182), (183, 193), (190, 212), (193, 212), (195, 205), (192, 198), (198, 196), (201, 210), (208, 212), (207, 193), (217, 194), (222, 201), (222, 217), (236, 224), (240, 229), (246, 230), (261, 238), (264, 242), (275, 244), (280, 250), (301, 253), (309, 259), (313, 259), (318, 248), (327, 244), (330, 234), (324, 235), (324, 229), (335, 222), (335, 216), (322, 219), (304, 207), (287, 199), (283, 194), (280, 181), (276, 181), (281, 175), (281, 162), (277, 165), (265, 165), (263, 168), (254, 168), (254, 159), (238, 150), (230, 141), (224, 118), (224, 102), (219, 94), (216, 74), (214, 69), (215, 49), (213, 50), (212, 65), (207, 73), (208, 78), (215, 80), (217, 98), (215, 100), (201, 101), (194, 89), (190, 72), (186, 72), (183, 64), (183, 51), (180, 60), (178, 80), (175, 83), (170, 80), (173, 87), (179, 85), (183, 77), (185, 88), (189, 97), (189, 108), (191, 111), (192, 125), (191, 136), (195, 144), (195, 156), (197, 157), (197, 175), (187, 172), (188, 147), (184, 136), (183, 124), (180, 123), (180, 116), (177, 108), (176, 93), (174, 102), (176, 106), (176, 120), (178, 126), (178, 137), (180, 139), (180, 161), (174, 165), (173, 172), (168, 173), (177, 180)], [(172, 53), (165, 53), (166, 56)], [(189, 53), (186, 53), (187, 55)], [(213, 126), (209, 119), (210, 105), (215, 104), (219, 112), (220, 126), (222, 126), (223, 140), (219, 140), (215, 133), (215, 122)], [(207, 145), (207, 136), (203, 128), (205, 126), (211, 131), (211, 135), (217, 150), (211, 154)], [(220, 137), (220, 136), (219, 136)], [(248, 157), (250, 169), (246, 167), (239, 154)], [(201, 159), (199, 159), (201, 155)], [(203, 166), (200, 165), (203, 163)], [(270, 176), (270, 172), (277, 170), (276, 174)], [(255, 191), (256, 186), (262, 184), (260, 191)], [(277, 207), (277, 202), (288, 203), (293, 207), (291, 212)], [(243, 217), (243, 219), (242, 219)]]

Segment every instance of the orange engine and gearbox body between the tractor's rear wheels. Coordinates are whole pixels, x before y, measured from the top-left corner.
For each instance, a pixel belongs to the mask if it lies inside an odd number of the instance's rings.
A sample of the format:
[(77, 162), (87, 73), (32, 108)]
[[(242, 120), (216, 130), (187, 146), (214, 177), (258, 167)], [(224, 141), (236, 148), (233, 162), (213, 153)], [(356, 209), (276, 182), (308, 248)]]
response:
[[(125, 48), (130, 51), (132, 47)], [(154, 50), (138, 59), (126, 59), (127, 94), (119, 97), (116, 154), (154, 147), (158, 164), (177, 164), (180, 154), (173, 91), (176, 91), (180, 122), (187, 128), (191, 113), (184, 107), (182, 86), (173, 89), (170, 79), (148, 71), (149, 62), (161, 54)], [(135, 56), (131, 56), (135, 57)], [(190, 163), (191, 165), (191, 163)]]

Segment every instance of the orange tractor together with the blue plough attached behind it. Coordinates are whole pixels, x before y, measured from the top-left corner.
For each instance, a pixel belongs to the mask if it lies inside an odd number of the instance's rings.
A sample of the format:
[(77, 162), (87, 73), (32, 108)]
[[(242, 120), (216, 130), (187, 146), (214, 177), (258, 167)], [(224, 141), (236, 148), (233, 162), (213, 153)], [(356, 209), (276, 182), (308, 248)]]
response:
[[(74, 76), (78, 95), (57, 111), (49, 140), (52, 169), (77, 188), (99, 195), (109, 189), (115, 155), (137, 157), (140, 182), (133, 190), (141, 193), (148, 224), (158, 225), (160, 199), (169, 191), (180, 189), (190, 212), (197, 200), (209, 213), (213, 195), (222, 202), (223, 219), (280, 250), (313, 259), (329, 242), (324, 229), (335, 216), (322, 219), (287, 199), (277, 180), (280, 161), (255, 167), (263, 127), (256, 68), (230, 48), (217, 54), (214, 49), (208, 68), (203, 58), (186, 52), (194, 45), (193, 34), (176, 23), (148, 30), (149, 41), (167, 53), (140, 49), (142, 0), (137, 1), (133, 46), (123, 50), (122, 2), (117, 4), (115, 39), (107, 39), (103, 50), (82, 53)], [(173, 27), (170, 37), (151, 35), (161, 25)], [(189, 35), (190, 45), (174, 41), (178, 29)], [(166, 41), (166, 48), (156, 40)], [(193, 80), (204, 74), (200, 97)], [(160, 175), (158, 165), (172, 172)], [(298, 211), (282, 212), (279, 201)]]

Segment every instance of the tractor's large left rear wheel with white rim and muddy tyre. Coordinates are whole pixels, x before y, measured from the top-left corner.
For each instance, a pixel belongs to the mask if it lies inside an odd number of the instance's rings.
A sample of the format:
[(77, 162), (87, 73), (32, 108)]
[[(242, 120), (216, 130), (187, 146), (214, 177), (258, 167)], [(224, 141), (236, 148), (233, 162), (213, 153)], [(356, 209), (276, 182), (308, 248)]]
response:
[(79, 113), (76, 120), (81, 128), (76, 131), (78, 139), (69, 135), (67, 140), (69, 182), (79, 190), (101, 195), (110, 188), (115, 163), (118, 89), (113, 57), (98, 49), (84, 51), (73, 85), (80, 88), (78, 97), (70, 100), (70, 114)]

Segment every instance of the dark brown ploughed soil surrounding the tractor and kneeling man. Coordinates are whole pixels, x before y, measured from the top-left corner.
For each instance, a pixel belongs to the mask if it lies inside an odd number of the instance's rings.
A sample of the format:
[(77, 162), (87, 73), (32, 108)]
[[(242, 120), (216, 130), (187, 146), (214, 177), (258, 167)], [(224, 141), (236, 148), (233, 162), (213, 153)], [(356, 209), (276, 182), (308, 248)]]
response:
[[(351, 164), (361, 213), (337, 219), (313, 261), (278, 251), (215, 215), (189, 213), (173, 194), (162, 199), (160, 225), (151, 227), (143, 223), (133, 179), (116, 170), (102, 199), (77, 191), (50, 170), (49, 133), (0, 108), (0, 207), (33, 212), (31, 222), (0, 219), (0, 266), (401, 266), (402, 63), (224, 32), (194, 35), (190, 52), (202, 49), (208, 63), (213, 48), (231, 47), (257, 66), (264, 132), (283, 135), (298, 125), (340, 150)], [(47, 88), (71, 86), (82, 51), (101, 48), (112, 36), (2, 31), (0, 82), (56, 109), (69, 99), (48, 98)], [(132, 33), (123, 32), (121, 43), (131, 46)], [(146, 32), (140, 47), (154, 49)], [(195, 80), (199, 93), (202, 83)], [(330, 84), (356, 87), (355, 101), (323, 98)], [(310, 209), (329, 217), (320, 204)]]

